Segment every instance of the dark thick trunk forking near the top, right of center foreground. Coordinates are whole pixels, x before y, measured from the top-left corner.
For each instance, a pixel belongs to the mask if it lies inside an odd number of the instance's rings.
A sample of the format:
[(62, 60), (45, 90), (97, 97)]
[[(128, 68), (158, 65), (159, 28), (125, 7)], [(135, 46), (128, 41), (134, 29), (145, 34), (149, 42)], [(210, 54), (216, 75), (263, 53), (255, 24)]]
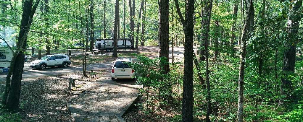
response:
[(185, 20), (181, 14), (178, 0), (174, 0), (185, 35), (184, 77), (181, 122), (193, 121), (193, 37), (194, 37), (194, 0), (185, 0)]

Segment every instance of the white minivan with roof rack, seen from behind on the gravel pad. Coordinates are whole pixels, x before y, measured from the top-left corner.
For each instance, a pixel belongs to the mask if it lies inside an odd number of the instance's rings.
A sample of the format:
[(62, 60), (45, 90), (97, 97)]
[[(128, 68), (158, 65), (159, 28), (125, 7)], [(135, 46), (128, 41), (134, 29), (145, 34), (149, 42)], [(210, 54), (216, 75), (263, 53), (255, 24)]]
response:
[(112, 80), (115, 78), (128, 78), (133, 80), (135, 70), (129, 68), (127, 62), (133, 63), (132, 58), (119, 57), (112, 67)]

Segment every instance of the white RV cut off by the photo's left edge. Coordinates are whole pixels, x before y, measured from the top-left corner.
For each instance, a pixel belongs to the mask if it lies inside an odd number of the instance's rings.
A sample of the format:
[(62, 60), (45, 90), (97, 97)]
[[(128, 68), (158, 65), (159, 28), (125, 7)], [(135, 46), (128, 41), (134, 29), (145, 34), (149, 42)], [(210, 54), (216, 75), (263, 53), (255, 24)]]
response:
[(0, 68), (10, 67), (13, 52), (8, 47), (0, 47)]

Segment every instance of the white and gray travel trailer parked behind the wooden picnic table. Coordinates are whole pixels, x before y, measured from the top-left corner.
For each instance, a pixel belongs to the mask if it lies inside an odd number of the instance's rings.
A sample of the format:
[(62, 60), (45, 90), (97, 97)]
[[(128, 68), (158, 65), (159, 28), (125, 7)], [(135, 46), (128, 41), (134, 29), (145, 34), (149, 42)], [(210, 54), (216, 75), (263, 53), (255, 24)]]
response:
[[(114, 39), (112, 38), (96, 38), (95, 49), (103, 49), (107, 51), (113, 50)], [(117, 49), (132, 49), (132, 43), (125, 38), (117, 39)]]

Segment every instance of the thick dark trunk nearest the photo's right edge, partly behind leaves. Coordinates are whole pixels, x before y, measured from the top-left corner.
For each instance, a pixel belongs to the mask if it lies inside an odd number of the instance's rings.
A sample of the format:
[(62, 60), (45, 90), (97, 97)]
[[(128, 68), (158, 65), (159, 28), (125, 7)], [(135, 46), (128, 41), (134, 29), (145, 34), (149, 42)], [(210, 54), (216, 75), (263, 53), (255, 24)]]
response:
[(280, 86), (280, 97), (279, 105), (285, 103), (284, 100), (290, 100), (290, 95), (287, 93), (292, 93), (291, 85), (292, 79), (289, 75), (295, 73), (295, 58), (296, 58), (296, 47), (297, 43), (300, 41), (298, 37), (299, 23), (302, 18), (301, 13), (298, 12), (302, 6), (302, 0), (298, 0), (293, 5), (291, 5), (289, 13), (291, 15), (288, 17), (287, 22), (287, 43), (286, 49), (283, 53), (283, 65), (282, 65), (282, 77)]

